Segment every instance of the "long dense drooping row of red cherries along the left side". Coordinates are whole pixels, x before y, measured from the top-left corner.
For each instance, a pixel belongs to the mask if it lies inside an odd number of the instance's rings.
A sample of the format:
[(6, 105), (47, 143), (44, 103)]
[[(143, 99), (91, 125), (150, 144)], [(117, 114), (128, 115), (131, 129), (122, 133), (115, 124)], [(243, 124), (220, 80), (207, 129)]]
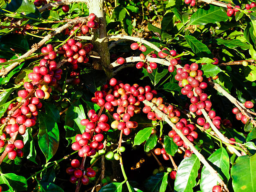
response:
[[(32, 127), (36, 124), (38, 109), (42, 108), (42, 103), (39, 99), (48, 99), (52, 88), (48, 86), (58, 86), (57, 81), (61, 79), (62, 70), (57, 69), (56, 61), (53, 59), (56, 58), (56, 52), (53, 51), (53, 47), (49, 44), (46, 47), (41, 49), (42, 53), (46, 53), (44, 59), (41, 59), (39, 66), (33, 68), (33, 72), (28, 74), (28, 78), (31, 79), (31, 82), (24, 82), (24, 90), (18, 91), (17, 102), (11, 103), (8, 106), (7, 114), (10, 117), (1, 118), (0, 123), (3, 124), (7, 121), (7, 126), (5, 132), (12, 137), (17, 131), (20, 135), (25, 134), (27, 127)], [(0, 61), (6, 61), (1, 59)], [(27, 98), (31, 91), (36, 91)], [(13, 111), (19, 102), (22, 102), (24, 99), (25, 102)], [(3, 133), (0, 136), (1, 145), (6, 140), (6, 134)], [(4, 145), (3, 145), (4, 146)], [(2, 146), (2, 147), (3, 147)], [(14, 147), (13, 147), (14, 146)], [(15, 159), (16, 156), (23, 156), (23, 152), (20, 150), (23, 148), (24, 143), (20, 140), (10, 143), (6, 146), (5, 151), (8, 152), (9, 159)], [(14, 150), (16, 148), (16, 150)]]

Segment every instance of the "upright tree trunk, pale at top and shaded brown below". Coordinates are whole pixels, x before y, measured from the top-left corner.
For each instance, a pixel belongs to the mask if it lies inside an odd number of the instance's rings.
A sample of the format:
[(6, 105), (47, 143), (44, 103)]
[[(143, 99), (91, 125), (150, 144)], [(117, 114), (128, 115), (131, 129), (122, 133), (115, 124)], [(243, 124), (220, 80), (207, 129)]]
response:
[(92, 44), (100, 54), (101, 64), (108, 78), (112, 77), (110, 66), (110, 54), (108, 51), (108, 38), (106, 31), (106, 18), (103, 10), (104, 0), (87, 0), (89, 13), (94, 13), (99, 18), (99, 28), (93, 29)]

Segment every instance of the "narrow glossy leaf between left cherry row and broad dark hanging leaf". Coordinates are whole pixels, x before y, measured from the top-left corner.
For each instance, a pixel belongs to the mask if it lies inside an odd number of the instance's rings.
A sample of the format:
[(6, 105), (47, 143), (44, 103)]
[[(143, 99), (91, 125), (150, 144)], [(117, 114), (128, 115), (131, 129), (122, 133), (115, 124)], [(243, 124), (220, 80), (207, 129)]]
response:
[(35, 141), (33, 141), (32, 136), (32, 128), (27, 128), (26, 133), (23, 135), (24, 141), (24, 156), (27, 157), (28, 160), (36, 163), (36, 149), (35, 149)]

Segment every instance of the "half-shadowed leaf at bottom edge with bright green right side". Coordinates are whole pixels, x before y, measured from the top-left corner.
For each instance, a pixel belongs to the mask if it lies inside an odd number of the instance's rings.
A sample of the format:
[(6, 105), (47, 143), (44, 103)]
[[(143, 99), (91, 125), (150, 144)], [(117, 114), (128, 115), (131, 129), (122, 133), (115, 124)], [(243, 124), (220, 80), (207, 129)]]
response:
[(166, 186), (168, 184), (168, 174), (168, 172), (158, 173), (148, 177), (148, 179), (144, 182), (144, 187), (146, 189), (145, 192), (165, 192)]

